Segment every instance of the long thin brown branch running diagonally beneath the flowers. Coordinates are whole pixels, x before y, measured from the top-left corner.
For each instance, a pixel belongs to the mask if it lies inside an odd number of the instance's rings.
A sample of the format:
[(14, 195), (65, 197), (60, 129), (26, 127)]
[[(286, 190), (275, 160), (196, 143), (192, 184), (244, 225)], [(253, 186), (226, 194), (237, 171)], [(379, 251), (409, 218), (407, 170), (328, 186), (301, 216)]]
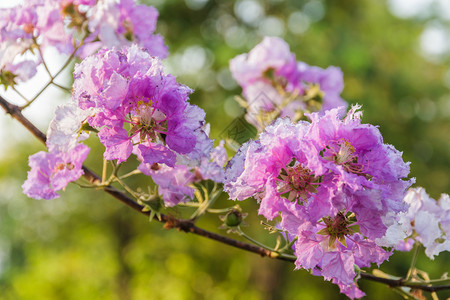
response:
[[(34, 126), (22, 113), (19, 106), (14, 105), (6, 101), (2, 96), (0, 96), (0, 106), (6, 111), (7, 114), (10, 114), (14, 119), (19, 121), (23, 126), (25, 126), (37, 139), (39, 139), (41, 142), (45, 143), (46, 136), (44, 133), (42, 133), (36, 126)], [(101, 178), (95, 174), (93, 171), (91, 171), (89, 168), (83, 166), (84, 171), (84, 177), (89, 180), (89, 182), (98, 184), (101, 183)], [(143, 206), (138, 204), (136, 201), (134, 201), (132, 198), (128, 197), (123, 192), (119, 191), (113, 186), (106, 186), (103, 187), (104, 191), (116, 198), (117, 200), (121, 201), (125, 205), (133, 208), (134, 210), (138, 211), (141, 214), (144, 214), (146, 216), (150, 215), (150, 212), (143, 211)], [(227, 244), (232, 247), (236, 247), (245, 251), (249, 251), (252, 253), (256, 253), (261, 255), (262, 257), (267, 256), (270, 258), (276, 258), (279, 260), (294, 262), (295, 260), (289, 257), (283, 257), (280, 256), (278, 253), (264, 249), (259, 246), (255, 246), (252, 244), (248, 244), (245, 242), (241, 242), (232, 238), (229, 238), (227, 236), (223, 236), (205, 229), (202, 229), (200, 227), (195, 226), (195, 224), (192, 222), (192, 220), (183, 220), (183, 219), (177, 219), (172, 216), (161, 214), (160, 217), (161, 223), (164, 224), (164, 228), (171, 229), (176, 228), (179, 231), (184, 231), (186, 233), (193, 233), (196, 235), (203, 236), (205, 238), (218, 241), (223, 244)], [(400, 286), (406, 286), (411, 287), (414, 289), (420, 289), (428, 292), (436, 292), (439, 290), (444, 289), (450, 289), (450, 285), (440, 285), (440, 286), (429, 286), (429, 285), (416, 285), (416, 284), (409, 284), (404, 279), (389, 279), (389, 278), (382, 278), (378, 277), (369, 273), (361, 273), (361, 278), (367, 279), (370, 281), (380, 282), (384, 283), (390, 287), (400, 287)]]

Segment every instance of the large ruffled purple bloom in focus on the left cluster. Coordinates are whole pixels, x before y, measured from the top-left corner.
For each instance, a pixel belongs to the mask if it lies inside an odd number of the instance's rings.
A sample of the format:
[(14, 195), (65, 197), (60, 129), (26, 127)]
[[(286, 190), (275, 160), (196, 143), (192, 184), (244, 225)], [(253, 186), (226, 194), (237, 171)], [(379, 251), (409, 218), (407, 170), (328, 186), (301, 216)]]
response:
[(75, 67), (73, 100), (97, 113), (88, 119), (99, 130), (104, 157), (173, 167), (202, 140), (202, 109), (188, 103), (192, 90), (163, 72), (160, 60), (133, 45), (102, 49)]

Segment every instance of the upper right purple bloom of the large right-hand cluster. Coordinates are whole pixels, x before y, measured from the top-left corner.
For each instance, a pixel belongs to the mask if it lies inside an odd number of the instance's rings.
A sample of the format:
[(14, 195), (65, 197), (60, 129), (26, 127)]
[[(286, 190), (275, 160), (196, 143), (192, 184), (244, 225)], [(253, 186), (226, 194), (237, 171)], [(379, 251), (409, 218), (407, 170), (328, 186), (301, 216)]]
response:
[(403, 162), (402, 153), (393, 146), (383, 144), (376, 126), (361, 123), (358, 109), (354, 106), (343, 120), (340, 109), (323, 116), (309, 115), (309, 138), (315, 150), (308, 167), (319, 176), (334, 174), (334, 206), (353, 211), (358, 220), (367, 220), (361, 232), (379, 238), (386, 231), (382, 217), (389, 211), (405, 210), (402, 199), (414, 180), (403, 180), (409, 163)]

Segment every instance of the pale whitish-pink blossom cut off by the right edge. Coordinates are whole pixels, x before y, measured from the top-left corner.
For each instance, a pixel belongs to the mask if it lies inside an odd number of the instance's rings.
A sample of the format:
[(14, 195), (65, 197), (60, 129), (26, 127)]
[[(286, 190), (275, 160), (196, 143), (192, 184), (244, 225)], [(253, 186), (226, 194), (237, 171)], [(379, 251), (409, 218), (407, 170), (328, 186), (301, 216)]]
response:
[(424, 188), (410, 189), (404, 198), (406, 212), (397, 214), (386, 235), (377, 242), (396, 250), (409, 251), (414, 242), (425, 247), (425, 254), (434, 259), (442, 251), (450, 251), (450, 198), (442, 194), (438, 201)]

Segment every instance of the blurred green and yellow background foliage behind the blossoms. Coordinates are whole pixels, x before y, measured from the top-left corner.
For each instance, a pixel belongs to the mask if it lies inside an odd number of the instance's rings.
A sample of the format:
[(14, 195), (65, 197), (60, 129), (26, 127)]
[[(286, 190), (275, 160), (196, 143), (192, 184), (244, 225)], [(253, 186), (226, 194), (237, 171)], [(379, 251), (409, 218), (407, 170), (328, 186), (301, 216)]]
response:
[[(228, 61), (262, 36), (279, 35), (298, 60), (343, 70), (343, 98), (363, 105), (364, 122), (380, 126), (385, 142), (412, 162), (416, 185), (438, 198), (450, 187), (450, 52), (448, 45), (431, 46), (440, 41), (432, 30), (440, 28), (442, 37), (449, 20), (439, 1), (402, 18), (391, 13), (393, 2), (148, 1), (160, 11), (168, 70), (195, 89), (191, 100), (206, 110), (212, 138), (223, 137), (243, 113), (233, 100), (240, 89)], [(98, 151), (87, 165), (100, 172), (101, 146), (95, 138), (90, 144)], [(70, 185), (56, 200), (27, 199), (20, 188), (27, 157), (43, 149), (30, 135), (1, 160), (0, 299), (346, 299), (322, 278), (293, 271), (292, 264), (165, 230), (101, 191)], [(130, 184), (140, 183), (146, 179)], [(232, 204), (224, 196), (218, 206)], [(242, 205), (247, 223), (258, 224), (255, 204)], [(199, 225), (219, 231), (220, 222), (212, 216)], [(259, 226), (246, 230), (273, 242)], [(397, 253), (382, 270), (402, 276), (409, 261), (409, 253)], [(434, 278), (449, 265), (448, 252), (434, 261), (420, 252), (418, 267)], [(381, 284), (360, 285), (366, 299), (400, 299)]]

